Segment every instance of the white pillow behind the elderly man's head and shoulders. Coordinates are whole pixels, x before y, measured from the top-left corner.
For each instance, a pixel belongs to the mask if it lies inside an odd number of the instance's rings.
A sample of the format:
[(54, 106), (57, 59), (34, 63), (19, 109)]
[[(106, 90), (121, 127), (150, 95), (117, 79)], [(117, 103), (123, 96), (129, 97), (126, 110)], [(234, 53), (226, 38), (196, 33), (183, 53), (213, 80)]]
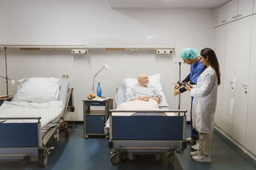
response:
[[(168, 102), (166, 100), (166, 96), (164, 94), (163, 87), (161, 85), (161, 75), (154, 74), (152, 76), (148, 76), (148, 86), (153, 86), (157, 89), (157, 91), (163, 96), (162, 101), (159, 103), (159, 106), (168, 106)], [(129, 94), (131, 89), (135, 89), (136, 85), (140, 85), (138, 80), (135, 78), (125, 78), (124, 79), (125, 86), (126, 86), (126, 94)]]

